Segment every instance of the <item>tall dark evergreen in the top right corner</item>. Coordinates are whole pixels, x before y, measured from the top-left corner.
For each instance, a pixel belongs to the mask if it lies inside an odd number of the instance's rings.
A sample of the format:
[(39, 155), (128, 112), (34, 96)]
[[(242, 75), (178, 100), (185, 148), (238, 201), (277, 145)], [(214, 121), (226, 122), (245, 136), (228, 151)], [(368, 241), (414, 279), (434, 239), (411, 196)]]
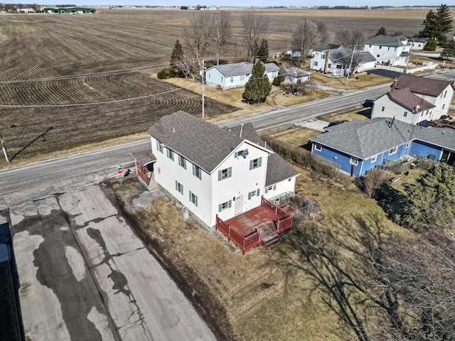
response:
[(444, 43), (446, 33), (452, 29), (452, 17), (449, 8), (442, 4), (436, 12), (430, 10), (422, 25), (425, 27), (419, 32), (419, 36), (435, 38), (439, 43)]

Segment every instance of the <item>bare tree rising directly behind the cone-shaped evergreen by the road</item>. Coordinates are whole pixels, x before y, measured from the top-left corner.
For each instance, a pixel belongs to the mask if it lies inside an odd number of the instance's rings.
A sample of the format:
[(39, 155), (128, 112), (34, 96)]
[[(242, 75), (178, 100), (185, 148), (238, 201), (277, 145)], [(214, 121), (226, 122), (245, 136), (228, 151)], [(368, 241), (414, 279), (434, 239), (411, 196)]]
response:
[(257, 55), (259, 44), (264, 38), (265, 31), (269, 27), (269, 18), (258, 14), (256, 11), (245, 11), (242, 15), (243, 38), (247, 46), (247, 57), (250, 62)]

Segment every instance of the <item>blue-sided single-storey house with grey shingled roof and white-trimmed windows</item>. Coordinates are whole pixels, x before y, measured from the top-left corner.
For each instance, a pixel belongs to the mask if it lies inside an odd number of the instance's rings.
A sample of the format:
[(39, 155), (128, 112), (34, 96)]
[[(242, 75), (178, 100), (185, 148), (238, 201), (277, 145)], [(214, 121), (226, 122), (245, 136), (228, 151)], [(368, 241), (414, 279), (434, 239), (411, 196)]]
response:
[(422, 156), (455, 166), (455, 130), (415, 126), (397, 119), (353, 120), (310, 139), (311, 153), (352, 176), (405, 156)]

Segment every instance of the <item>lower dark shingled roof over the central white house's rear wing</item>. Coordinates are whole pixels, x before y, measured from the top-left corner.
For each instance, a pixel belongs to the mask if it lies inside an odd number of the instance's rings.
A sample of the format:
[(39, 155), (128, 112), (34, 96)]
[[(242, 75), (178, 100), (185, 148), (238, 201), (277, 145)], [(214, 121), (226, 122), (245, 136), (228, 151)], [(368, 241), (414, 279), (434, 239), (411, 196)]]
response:
[[(228, 129), (232, 134), (239, 135), (240, 130), (242, 130), (242, 136), (245, 137), (248, 141), (252, 141), (254, 144), (259, 144), (259, 146), (265, 146), (264, 141), (257, 136), (256, 130), (251, 123), (247, 123), (243, 126), (233, 126)], [(269, 151), (273, 151), (269, 146), (265, 146)], [(267, 175), (265, 179), (265, 185), (273, 185), (274, 183), (279, 183), (279, 181), (287, 180), (294, 176), (299, 175), (294, 167), (289, 165), (284, 159), (279, 156), (277, 153), (272, 153), (267, 159)]]

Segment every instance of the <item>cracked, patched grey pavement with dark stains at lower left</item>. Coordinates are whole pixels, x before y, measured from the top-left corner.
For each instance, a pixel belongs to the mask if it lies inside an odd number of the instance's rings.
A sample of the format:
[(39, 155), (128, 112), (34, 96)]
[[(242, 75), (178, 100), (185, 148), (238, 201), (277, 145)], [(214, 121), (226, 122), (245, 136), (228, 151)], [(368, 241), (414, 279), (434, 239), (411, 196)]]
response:
[(28, 340), (215, 340), (100, 185), (10, 217)]

